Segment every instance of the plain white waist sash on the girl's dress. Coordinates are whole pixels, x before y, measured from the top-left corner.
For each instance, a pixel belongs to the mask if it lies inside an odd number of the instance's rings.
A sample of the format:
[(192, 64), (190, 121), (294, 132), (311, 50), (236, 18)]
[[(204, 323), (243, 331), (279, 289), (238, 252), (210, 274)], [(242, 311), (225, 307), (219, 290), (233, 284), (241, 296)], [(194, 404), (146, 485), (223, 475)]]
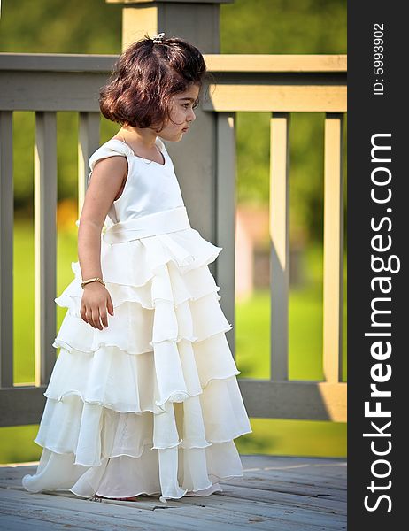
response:
[(102, 237), (107, 243), (121, 243), (172, 233), (186, 228), (191, 228), (186, 207), (178, 206), (141, 218), (119, 221), (111, 227), (107, 227)]

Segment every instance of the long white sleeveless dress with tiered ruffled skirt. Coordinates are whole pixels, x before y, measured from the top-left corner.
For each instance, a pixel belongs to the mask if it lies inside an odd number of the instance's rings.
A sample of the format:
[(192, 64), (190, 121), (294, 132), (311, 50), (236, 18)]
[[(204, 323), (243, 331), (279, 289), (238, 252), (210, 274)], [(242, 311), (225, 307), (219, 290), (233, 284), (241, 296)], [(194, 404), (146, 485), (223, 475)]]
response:
[[(128, 173), (101, 235), (108, 327), (81, 319), (81, 269), (55, 302), (68, 310), (25, 489), (81, 497), (209, 496), (243, 476), (233, 439), (252, 432), (208, 264), (222, 250), (190, 227), (174, 165), (112, 138), (89, 158), (124, 156)], [(78, 225), (77, 221), (77, 225)]]

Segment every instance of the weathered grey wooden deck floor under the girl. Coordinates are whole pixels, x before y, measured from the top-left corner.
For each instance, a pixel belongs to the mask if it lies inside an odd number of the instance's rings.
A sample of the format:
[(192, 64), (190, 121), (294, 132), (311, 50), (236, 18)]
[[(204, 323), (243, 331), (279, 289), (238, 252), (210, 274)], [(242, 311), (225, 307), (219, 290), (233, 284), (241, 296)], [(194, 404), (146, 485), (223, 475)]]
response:
[(346, 459), (242, 455), (244, 477), (220, 481), (223, 492), (162, 504), (94, 502), (71, 493), (32, 494), (21, 486), (36, 464), (0, 467), (0, 529), (97, 531), (346, 529)]

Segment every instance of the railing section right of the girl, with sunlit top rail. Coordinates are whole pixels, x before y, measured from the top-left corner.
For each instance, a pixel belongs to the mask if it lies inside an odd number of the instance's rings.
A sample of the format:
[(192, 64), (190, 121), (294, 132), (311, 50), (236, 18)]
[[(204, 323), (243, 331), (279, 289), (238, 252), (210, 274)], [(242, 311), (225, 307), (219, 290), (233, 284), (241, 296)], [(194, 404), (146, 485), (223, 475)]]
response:
[[(343, 362), (343, 115), (346, 56), (208, 55), (217, 77), (204, 110), (218, 113), (218, 280), (234, 319), (235, 112), (270, 112), (270, 379), (240, 379), (252, 417), (346, 421)], [(324, 112), (324, 381), (289, 381), (289, 122)], [(227, 222), (228, 220), (228, 222)]]

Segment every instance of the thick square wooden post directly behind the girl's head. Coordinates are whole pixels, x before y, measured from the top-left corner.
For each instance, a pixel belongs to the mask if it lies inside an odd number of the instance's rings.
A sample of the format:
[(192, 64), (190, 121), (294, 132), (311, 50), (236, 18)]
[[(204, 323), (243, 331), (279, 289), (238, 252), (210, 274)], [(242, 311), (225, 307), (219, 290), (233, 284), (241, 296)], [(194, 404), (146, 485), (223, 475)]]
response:
[[(197, 46), (203, 54), (220, 53), (220, 4), (234, 2), (234, 0), (105, 1), (108, 4), (124, 4), (122, 50), (131, 42), (142, 39), (145, 33), (151, 37), (159, 32), (165, 32), (166, 37), (176, 36), (186, 39)], [(206, 87), (202, 93), (202, 101), (205, 101)], [(220, 174), (223, 164), (220, 164), (218, 157), (225, 158), (226, 155), (218, 149), (220, 142), (218, 113), (204, 112), (203, 105), (199, 105), (195, 114), (197, 120), (181, 144), (166, 142), (166, 149), (174, 161), (174, 169), (181, 184), (182, 196), (188, 208), (192, 227), (197, 227), (205, 239), (219, 244), (219, 240), (225, 241), (225, 238), (218, 234), (218, 226), (220, 227), (223, 220), (217, 218), (217, 189), (218, 181), (225, 179), (225, 175)], [(195, 156), (187, 157), (186, 154), (189, 153), (195, 153)], [(228, 199), (234, 201), (233, 197)], [(228, 217), (230, 214), (225, 212), (224, 215)], [(231, 219), (226, 219), (226, 222), (231, 226)], [(228, 251), (224, 252), (226, 254)], [(216, 264), (213, 262), (209, 267), (216, 282), (219, 283)], [(230, 274), (234, 275), (234, 267)], [(226, 274), (223, 278), (226, 278)], [(220, 304), (231, 323), (234, 319), (231, 312), (234, 297), (232, 283), (228, 283), (228, 289), (224, 289)], [(233, 347), (229, 336), (228, 341), (230, 347)]]

